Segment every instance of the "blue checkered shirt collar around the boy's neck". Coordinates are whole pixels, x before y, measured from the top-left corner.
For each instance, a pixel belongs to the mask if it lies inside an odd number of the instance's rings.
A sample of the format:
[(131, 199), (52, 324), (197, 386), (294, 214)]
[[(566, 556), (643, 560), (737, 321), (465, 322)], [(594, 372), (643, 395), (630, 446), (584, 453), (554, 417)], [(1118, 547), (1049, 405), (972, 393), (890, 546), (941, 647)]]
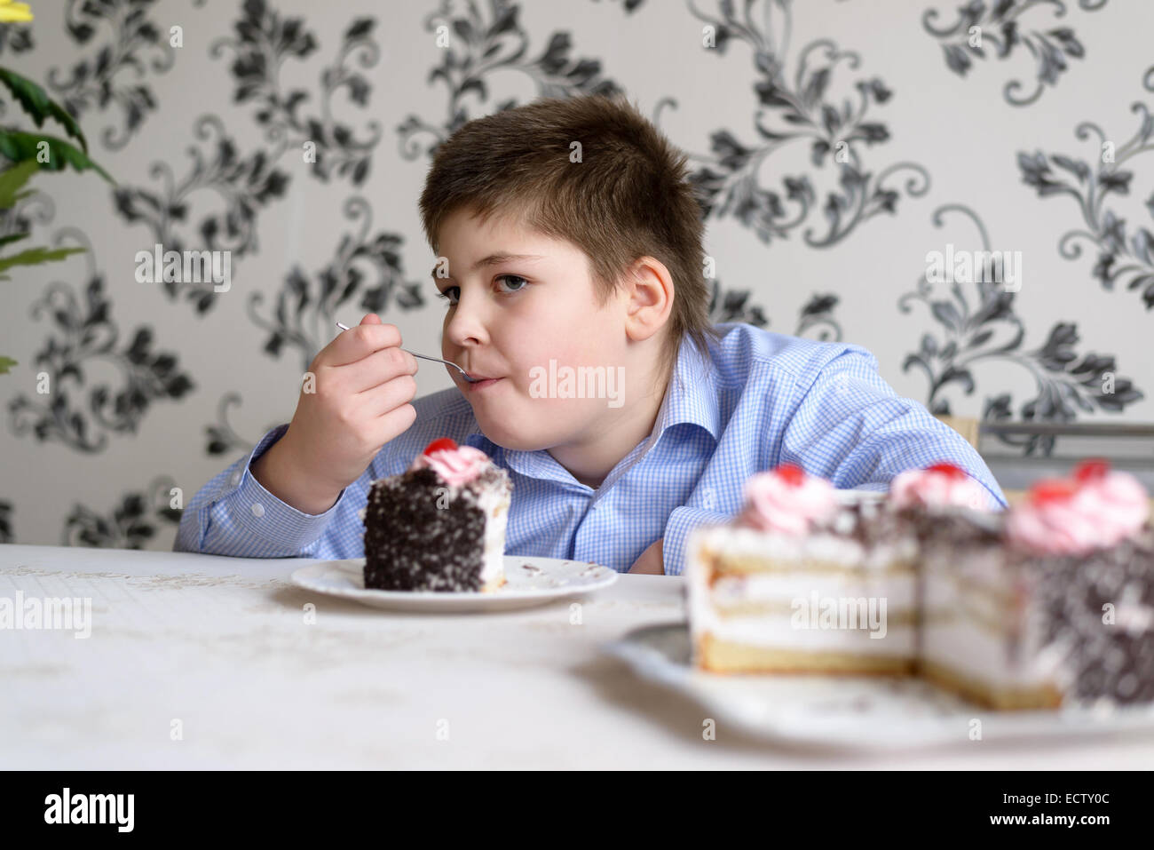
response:
[[(668, 428), (682, 424), (705, 430), (714, 442), (720, 440), (721, 410), (718, 407), (717, 372), (688, 334), (681, 341), (673, 376), (643, 453), (655, 446)], [(548, 452), (505, 450), (485, 437), (479, 428), (466, 435), (464, 442), (499, 458), (497, 465), (508, 465), (525, 476), (544, 478), (559, 471), (569, 475)]]

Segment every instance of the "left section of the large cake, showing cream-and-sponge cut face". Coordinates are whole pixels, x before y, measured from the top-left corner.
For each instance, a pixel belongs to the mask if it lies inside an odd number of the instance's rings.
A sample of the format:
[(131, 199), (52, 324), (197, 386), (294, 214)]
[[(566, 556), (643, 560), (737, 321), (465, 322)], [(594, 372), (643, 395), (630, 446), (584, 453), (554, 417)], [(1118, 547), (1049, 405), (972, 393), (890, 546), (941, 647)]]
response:
[(870, 493), (784, 464), (733, 523), (695, 529), (685, 580), (695, 665), (714, 672), (908, 673), (916, 538)]

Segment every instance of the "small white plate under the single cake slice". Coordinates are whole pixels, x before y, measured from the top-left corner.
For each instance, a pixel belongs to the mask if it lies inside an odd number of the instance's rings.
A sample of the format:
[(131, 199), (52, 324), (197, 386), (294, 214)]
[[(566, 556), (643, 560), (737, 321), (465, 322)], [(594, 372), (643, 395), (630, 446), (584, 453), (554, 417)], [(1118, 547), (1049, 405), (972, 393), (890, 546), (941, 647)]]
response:
[(542, 605), (609, 587), (617, 574), (608, 567), (557, 558), (504, 557), (505, 583), (494, 592), (433, 590), (374, 590), (365, 588), (365, 559), (324, 561), (292, 574), (294, 584), (330, 596), (355, 599), (396, 611), (509, 611)]

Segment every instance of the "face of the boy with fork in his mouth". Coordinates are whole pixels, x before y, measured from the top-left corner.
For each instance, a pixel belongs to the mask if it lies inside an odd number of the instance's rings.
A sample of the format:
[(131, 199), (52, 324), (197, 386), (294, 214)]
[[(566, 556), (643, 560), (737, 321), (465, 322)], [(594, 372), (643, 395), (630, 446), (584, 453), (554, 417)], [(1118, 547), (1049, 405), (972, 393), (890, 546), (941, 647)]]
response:
[[(595, 443), (628, 403), (620, 383), (630, 378), (629, 370), (619, 370), (628, 355), (621, 298), (598, 310), (585, 253), (509, 217), (492, 216), (481, 224), (470, 211), (457, 210), (437, 236), (448, 260), (448, 277), (435, 270), (433, 276), (449, 297), (442, 357), (472, 376), (497, 379), (470, 385), (445, 367), (485, 435), (526, 452)], [(556, 361), (555, 382), (550, 359)], [(602, 386), (610, 386), (612, 371), (613, 389), (602, 397), (560, 397), (565, 366), (575, 375), (579, 366), (602, 366)], [(619, 400), (612, 405), (606, 397), (610, 392)]]

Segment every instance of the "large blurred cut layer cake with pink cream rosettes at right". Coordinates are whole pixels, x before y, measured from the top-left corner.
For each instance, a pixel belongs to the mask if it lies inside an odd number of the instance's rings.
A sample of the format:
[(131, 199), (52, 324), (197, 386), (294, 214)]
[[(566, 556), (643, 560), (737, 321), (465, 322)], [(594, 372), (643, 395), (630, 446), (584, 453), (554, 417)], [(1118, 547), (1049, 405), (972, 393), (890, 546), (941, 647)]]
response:
[(1154, 700), (1141, 484), (1085, 462), (1007, 512), (989, 504), (947, 463), (881, 500), (796, 469), (754, 476), (733, 522), (690, 538), (695, 665), (920, 674), (996, 709)]

